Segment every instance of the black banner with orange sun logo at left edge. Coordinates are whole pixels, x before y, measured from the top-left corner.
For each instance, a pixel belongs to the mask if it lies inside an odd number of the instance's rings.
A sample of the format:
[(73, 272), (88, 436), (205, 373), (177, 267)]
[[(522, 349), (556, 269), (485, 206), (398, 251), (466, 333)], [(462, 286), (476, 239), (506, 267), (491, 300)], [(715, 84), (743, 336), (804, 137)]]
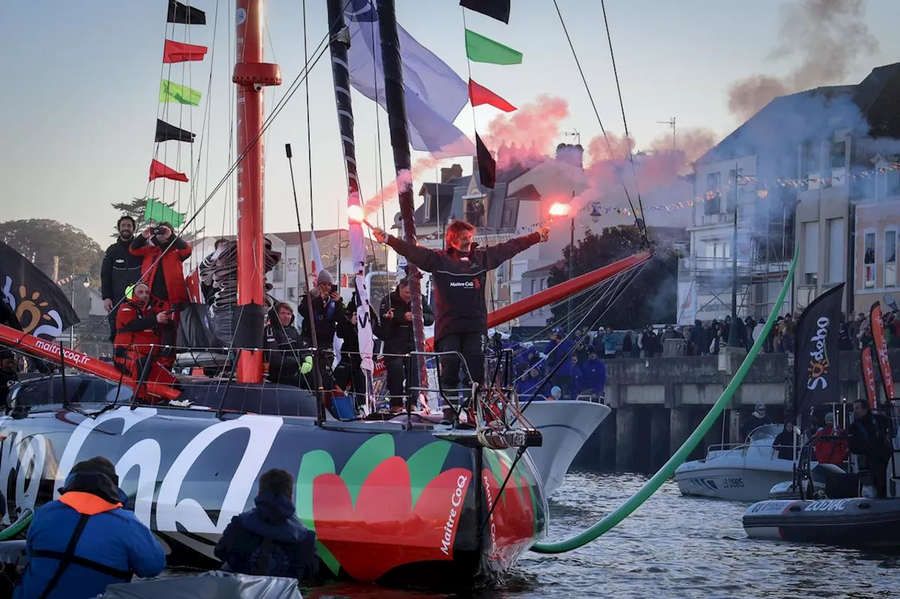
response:
[(0, 296), (25, 333), (52, 341), (80, 321), (66, 294), (37, 266), (0, 242)]

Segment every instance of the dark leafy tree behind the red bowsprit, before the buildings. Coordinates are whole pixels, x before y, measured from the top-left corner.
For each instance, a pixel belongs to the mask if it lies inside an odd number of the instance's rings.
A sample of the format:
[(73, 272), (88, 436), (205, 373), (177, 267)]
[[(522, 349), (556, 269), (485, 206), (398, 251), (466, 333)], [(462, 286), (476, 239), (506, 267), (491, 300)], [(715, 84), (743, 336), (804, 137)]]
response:
[[(598, 325), (612, 326), (617, 330), (675, 321), (679, 255), (670, 247), (662, 246), (659, 239), (653, 237), (652, 232), (650, 244), (654, 254), (650, 264), (644, 266), (620, 296), (614, 298), (605, 294), (599, 304), (591, 309), (581, 326), (590, 326), (601, 314), (603, 316), (599, 318)], [(611, 264), (646, 249), (640, 230), (633, 225), (604, 228), (600, 235), (589, 231), (575, 247), (572, 270), (574, 276), (589, 273), (602, 265)], [(566, 246), (563, 249), (563, 265), (550, 271), (547, 281), (549, 285), (568, 281), (570, 255), (572, 246)], [(573, 313), (581, 314), (578, 308), (583, 300), (572, 302)], [(565, 321), (568, 316), (568, 303), (562, 301), (553, 308), (554, 322)], [(576, 326), (579, 321), (581, 317), (573, 319), (572, 326)]]

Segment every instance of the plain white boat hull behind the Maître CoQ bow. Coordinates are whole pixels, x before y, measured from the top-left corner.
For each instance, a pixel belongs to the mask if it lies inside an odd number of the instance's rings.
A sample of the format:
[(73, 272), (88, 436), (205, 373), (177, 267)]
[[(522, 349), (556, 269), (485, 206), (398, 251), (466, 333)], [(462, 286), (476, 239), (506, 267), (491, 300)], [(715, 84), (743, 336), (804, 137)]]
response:
[(525, 418), (541, 432), (543, 444), (528, 448), (528, 455), (544, 479), (547, 496), (563, 484), (581, 446), (609, 416), (603, 404), (579, 400), (533, 401)]

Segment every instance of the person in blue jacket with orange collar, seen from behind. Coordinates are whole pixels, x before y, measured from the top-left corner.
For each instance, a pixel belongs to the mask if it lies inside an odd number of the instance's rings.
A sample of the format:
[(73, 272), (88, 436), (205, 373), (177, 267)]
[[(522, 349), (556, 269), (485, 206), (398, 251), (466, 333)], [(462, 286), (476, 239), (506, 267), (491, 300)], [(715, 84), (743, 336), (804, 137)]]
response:
[(59, 492), (31, 519), (29, 562), (14, 599), (88, 599), (133, 575), (155, 577), (166, 568), (159, 541), (122, 508), (127, 497), (110, 460), (78, 462)]

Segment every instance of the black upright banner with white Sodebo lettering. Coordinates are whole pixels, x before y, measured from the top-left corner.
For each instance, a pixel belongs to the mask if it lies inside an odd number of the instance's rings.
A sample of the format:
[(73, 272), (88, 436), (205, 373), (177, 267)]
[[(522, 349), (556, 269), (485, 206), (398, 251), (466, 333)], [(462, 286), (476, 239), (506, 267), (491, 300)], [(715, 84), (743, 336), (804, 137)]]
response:
[(808, 424), (816, 406), (841, 402), (838, 366), (844, 283), (825, 291), (800, 315), (795, 329), (794, 414)]

